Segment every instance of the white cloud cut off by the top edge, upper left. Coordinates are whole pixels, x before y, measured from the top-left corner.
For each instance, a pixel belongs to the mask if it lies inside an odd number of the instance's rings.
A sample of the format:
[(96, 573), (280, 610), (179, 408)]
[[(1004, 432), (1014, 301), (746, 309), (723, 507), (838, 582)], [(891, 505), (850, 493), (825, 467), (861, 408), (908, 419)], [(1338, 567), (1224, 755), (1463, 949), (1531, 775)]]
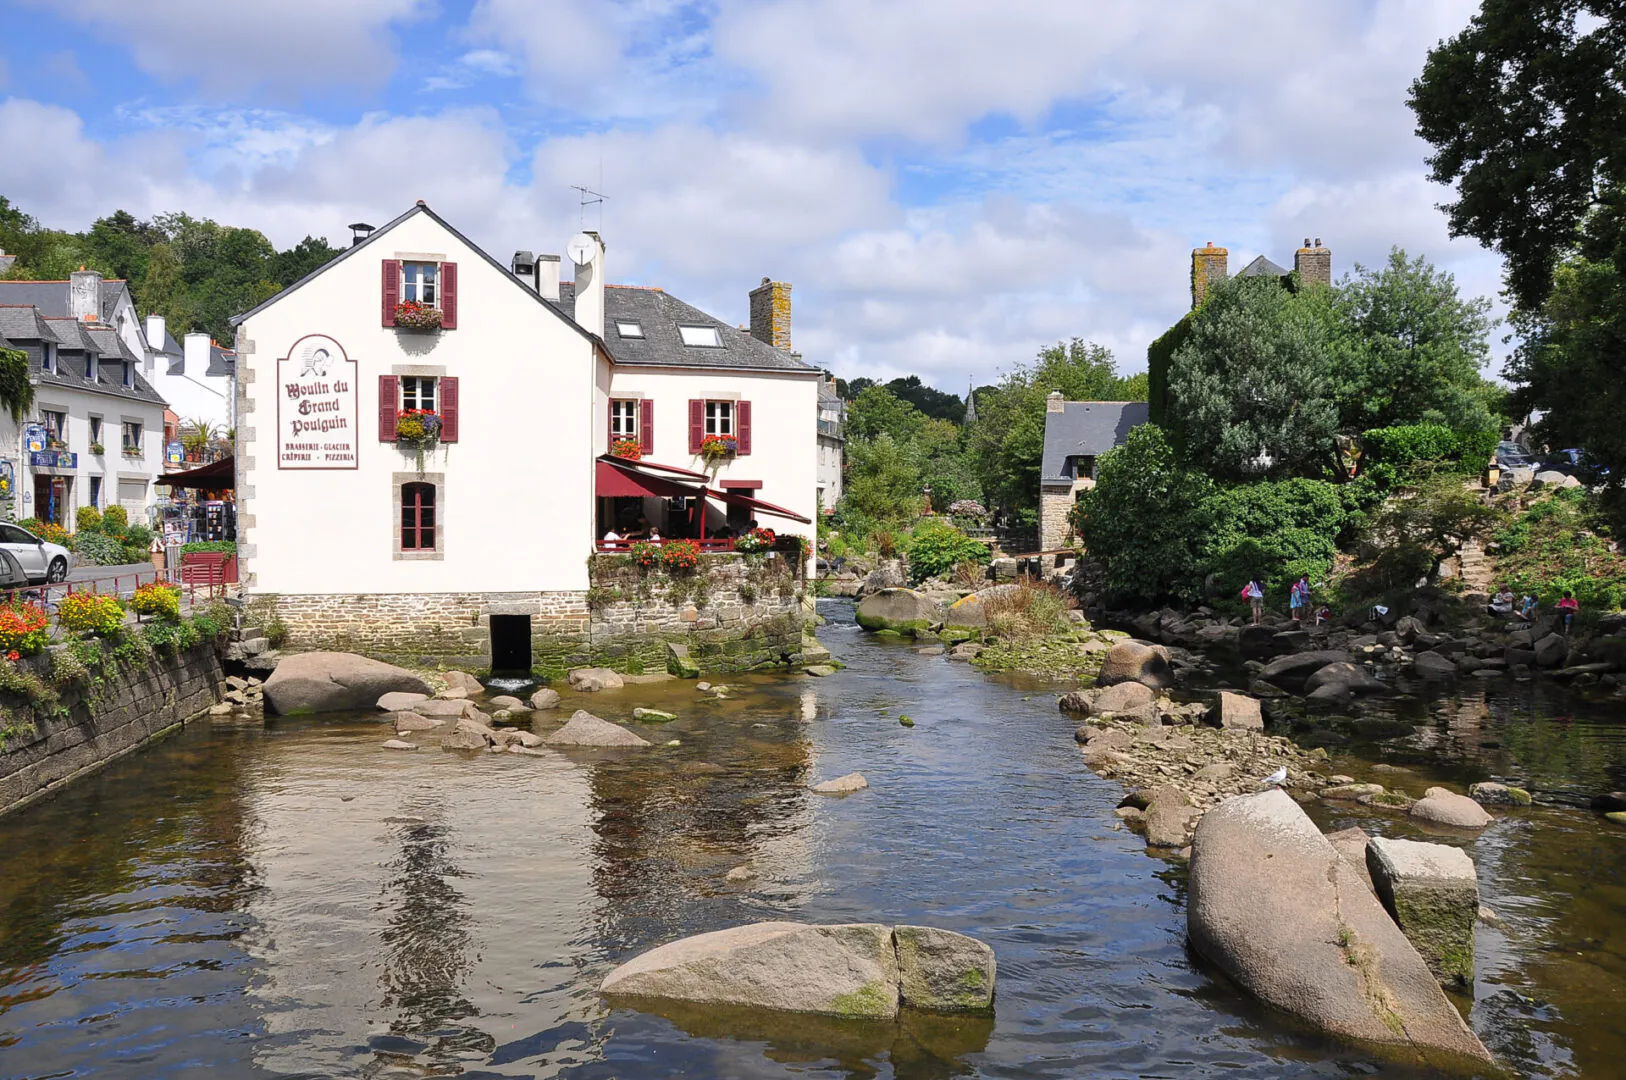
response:
[(128, 46), (137, 65), (163, 83), (197, 85), (213, 98), (270, 93), (283, 101), (382, 85), (397, 60), (390, 24), (429, 10), (429, 0), (29, 2)]

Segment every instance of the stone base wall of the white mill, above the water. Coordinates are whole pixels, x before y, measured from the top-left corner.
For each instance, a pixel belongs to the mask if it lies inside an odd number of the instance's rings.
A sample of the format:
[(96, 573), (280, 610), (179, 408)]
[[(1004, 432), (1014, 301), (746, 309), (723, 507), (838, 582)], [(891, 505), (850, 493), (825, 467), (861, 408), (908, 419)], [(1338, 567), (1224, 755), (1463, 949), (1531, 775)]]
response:
[(548, 678), (584, 665), (675, 670), (683, 652), (702, 672), (740, 672), (800, 654), (802, 573), (784, 553), (706, 555), (693, 574), (678, 576), (642, 569), (629, 555), (597, 555), (592, 587), (576, 592), (254, 594), (247, 602), (255, 621), (281, 621), (293, 651), (488, 668), (491, 616), (527, 615), (532, 667)]

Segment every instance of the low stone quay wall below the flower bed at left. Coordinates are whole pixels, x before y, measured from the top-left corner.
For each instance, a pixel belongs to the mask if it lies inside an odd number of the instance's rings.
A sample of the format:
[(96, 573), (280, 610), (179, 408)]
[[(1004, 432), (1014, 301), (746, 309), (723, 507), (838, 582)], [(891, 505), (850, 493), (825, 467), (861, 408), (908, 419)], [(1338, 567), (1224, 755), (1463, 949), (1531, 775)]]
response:
[[(46, 675), (49, 654), (23, 665)], [(55, 792), (148, 740), (220, 704), (220, 652), (205, 642), (159, 652), (141, 670), (120, 670), (94, 686), (59, 688), (60, 708), (39, 712), (5, 699), (13, 734), (0, 750), (0, 815)], [(33, 721), (33, 734), (18, 721)]]

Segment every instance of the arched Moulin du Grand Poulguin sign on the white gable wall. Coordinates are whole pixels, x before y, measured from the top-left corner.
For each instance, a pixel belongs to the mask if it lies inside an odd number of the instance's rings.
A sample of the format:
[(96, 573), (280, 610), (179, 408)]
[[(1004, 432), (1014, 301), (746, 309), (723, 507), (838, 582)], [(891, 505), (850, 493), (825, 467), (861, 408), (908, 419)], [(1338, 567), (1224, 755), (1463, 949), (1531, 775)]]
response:
[(322, 333), (276, 361), (276, 467), (356, 468), (356, 361)]

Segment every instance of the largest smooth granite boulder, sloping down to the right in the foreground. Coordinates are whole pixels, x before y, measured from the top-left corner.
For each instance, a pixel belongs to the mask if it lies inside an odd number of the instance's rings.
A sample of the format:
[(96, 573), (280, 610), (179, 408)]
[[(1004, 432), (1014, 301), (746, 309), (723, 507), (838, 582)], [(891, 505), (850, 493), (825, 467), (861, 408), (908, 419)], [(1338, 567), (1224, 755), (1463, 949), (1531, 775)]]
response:
[(1192, 947), (1267, 1005), (1441, 1069), (1491, 1060), (1377, 896), (1286, 792), (1205, 813), (1187, 890)]

